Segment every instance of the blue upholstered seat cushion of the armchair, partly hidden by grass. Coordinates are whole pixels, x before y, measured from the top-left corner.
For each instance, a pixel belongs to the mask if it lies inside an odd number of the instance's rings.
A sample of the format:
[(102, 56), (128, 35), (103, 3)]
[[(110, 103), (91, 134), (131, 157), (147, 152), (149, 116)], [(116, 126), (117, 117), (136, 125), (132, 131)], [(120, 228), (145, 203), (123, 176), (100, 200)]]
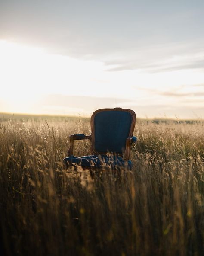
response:
[(83, 168), (108, 168), (111, 170), (120, 170), (122, 168), (127, 168), (131, 170), (132, 162), (130, 160), (124, 160), (120, 156), (108, 156), (108, 155), (90, 155), (83, 157), (66, 157), (63, 160), (66, 168), (71, 166), (79, 165)]

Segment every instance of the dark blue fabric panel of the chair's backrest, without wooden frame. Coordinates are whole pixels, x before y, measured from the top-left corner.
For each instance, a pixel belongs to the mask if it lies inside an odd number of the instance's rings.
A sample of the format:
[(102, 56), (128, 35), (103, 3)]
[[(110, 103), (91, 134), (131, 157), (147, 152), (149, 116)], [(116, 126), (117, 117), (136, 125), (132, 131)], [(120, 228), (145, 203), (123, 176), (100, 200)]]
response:
[(129, 137), (132, 115), (126, 111), (102, 111), (94, 118), (96, 152), (122, 153)]

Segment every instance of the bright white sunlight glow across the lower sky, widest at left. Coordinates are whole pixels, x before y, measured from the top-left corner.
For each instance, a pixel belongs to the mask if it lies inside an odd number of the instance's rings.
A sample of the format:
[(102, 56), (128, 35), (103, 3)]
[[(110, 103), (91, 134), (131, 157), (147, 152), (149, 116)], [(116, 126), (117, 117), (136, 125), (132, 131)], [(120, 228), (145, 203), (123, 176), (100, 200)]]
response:
[[(173, 62), (167, 60), (161, 66), (178, 61), (179, 57), (176, 57)], [(199, 94), (204, 90), (202, 70), (153, 73), (146, 70), (109, 71), (111, 68), (99, 61), (52, 55), (41, 48), (0, 41), (0, 111), (83, 112), (80, 107), (74, 110), (74, 106), (72, 110), (71, 106), (43, 106), (42, 99), (48, 95), (113, 98), (111, 107), (117, 106), (119, 99), (124, 99), (119, 104), (121, 107), (166, 105), (168, 109), (169, 106), (188, 104), (192, 108), (204, 107), (204, 95)], [(89, 102), (84, 100), (85, 104), (89, 105)], [(90, 112), (95, 107), (90, 106)]]

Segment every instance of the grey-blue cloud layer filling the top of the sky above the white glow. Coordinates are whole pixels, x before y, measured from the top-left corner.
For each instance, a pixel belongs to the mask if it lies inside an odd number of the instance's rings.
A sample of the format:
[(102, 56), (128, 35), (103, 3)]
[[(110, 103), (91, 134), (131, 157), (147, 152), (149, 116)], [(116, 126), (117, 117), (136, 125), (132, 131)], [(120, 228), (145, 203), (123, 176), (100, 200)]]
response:
[[(100, 61), (109, 71), (163, 72), (204, 65), (195, 56), (204, 52), (202, 1), (19, 0), (0, 5), (0, 38)], [(182, 61), (189, 53), (192, 59)], [(174, 56), (181, 58), (166, 63)]]

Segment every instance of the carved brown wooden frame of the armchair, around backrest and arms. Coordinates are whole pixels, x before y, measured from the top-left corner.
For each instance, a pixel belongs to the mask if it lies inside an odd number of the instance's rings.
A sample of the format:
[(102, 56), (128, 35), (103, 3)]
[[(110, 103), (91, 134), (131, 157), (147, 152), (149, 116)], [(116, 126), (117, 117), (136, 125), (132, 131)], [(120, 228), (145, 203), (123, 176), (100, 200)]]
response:
[[(69, 136), (69, 140), (70, 140), (70, 147), (68, 149), (68, 156), (73, 155), (73, 150), (74, 150), (74, 140), (90, 140), (91, 141), (91, 149), (92, 152), (95, 153), (96, 155), (100, 155), (100, 154), (107, 154), (107, 152), (98, 152), (96, 151), (95, 147), (94, 147), (94, 142), (95, 142), (95, 126), (94, 126), (94, 118), (96, 116), (96, 114), (98, 114), (99, 112), (103, 112), (103, 111), (124, 111), (124, 112), (129, 112), (132, 116), (132, 122), (130, 125), (130, 132), (129, 132), (129, 137), (133, 136), (133, 132), (134, 132), (134, 128), (135, 128), (135, 124), (136, 124), (136, 114), (133, 110), (131, 109), (122, 109), (122, 108), (114, 108), (114, 109), (98, 109), (95, 112), (93, 112), (92, 116), (91, 116), (91, 134), (90, 135), (85, 135), (83, 138), (78, 138), (77, 134), (72, 134)], [(124, 151), (124, 159), (128, 160), (130, 158), (130, 149), (131, 149), (131, 143), (132, 143), (132, 138), (127, 138), (126, 139), (126, 147), (125, 147), (125, 151)], [(120, 152), (114, 152), (114, 154), (118, 154), (121, 155)]]

